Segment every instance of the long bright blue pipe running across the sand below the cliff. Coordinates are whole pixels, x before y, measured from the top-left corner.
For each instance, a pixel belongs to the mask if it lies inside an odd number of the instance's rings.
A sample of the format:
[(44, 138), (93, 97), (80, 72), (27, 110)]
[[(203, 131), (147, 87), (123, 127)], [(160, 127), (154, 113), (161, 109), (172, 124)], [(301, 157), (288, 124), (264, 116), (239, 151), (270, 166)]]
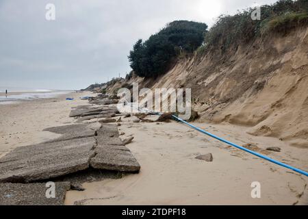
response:
[(270, 158), (270, 157), (266, 157), (266, 156), (264, 156), (264, 155), (261, 155), (261, 154), (255, 152), (255, 151), (251, 151), (251, 150), (249, 150), (249, 149), (246, 149), (246, 148), (244, 148), (243, 146), (239, 146), (238, 144), (234, 144), (234, 143), (232, 143), (232, 142), (229, 142), (229, 141), (227, 141), (227, 140), (224, 140), (223, 138), (219, 138), (218, 136), (215, 136), (215, 135), (213, 135), (213, 134), (211, 134), (211, 133), (209, 133), (209, 132), (207, 132), (207, 131), (204, 131), (203, 129), (200, 129), (200, 128), (198, 128), (198, 127), (195, 127), (194, 125), (191, 125), (190, 123), (186, 122), (185, 120), (182, 120), (181, 118), (179, 118), (179, 117), (177, 117), (177, 116), (175, 116), (175, 115), (172, 115), (172, 116), (173, 116), (174, 118), (176, 118), (177, 120), (181, 121), (182, 123), (185, 123), (185, 124), (188, 125), (189, 127), (192, 127), (193, 129), (196, 129), (197, 131), (200, 131), (200, 132), (202, 132), (202, 133), (205, 133), (207, 136), (210, 136), (210, 137), (212, 137), (212, 138), (215, 138), (215, 139), (217, 139), (217, 140), (220, 140), (221, 142), (227, 143), (227, 144), (229, 144), (229, 145), (235, 146), (235, 148), (238, 148), (238, 149), (241, 149), (241, 150), (246, 151), (246, 152), (248, 152), (248, 153), (251, 153), (251, 154), (253, 154), (253, 155), (257, 156), (257, 157), (261, 157), (261, 158), (263, 158), (263, 159), (266, 159), (266, 160), (268, 160), (269, 162), (272, 162), (272, 163), (274, 163), (274, 164), (278, 164), (278, 165), (283, 166), (283, 167), (285, 167), (285, 168), (289, 168), (290, 170), (294, 170), (295, 172), (299, 172), (300, 174), (305, 175), (306, 177), (308, 177), (308, 172), (305, 172), (304, 170), (300, 170), (300, 169), (295, 168), (295, 167), (293, 167), (293, 166), (290, 166), (290, 165), (287, 165), (287, 164), (283, 164), (283, 163), (281, 163), (281, 162), (279, 162), (279, 161), (277, 161), (277, 160), (275, 160), (275, 159), (272, 159), (272, 158)]

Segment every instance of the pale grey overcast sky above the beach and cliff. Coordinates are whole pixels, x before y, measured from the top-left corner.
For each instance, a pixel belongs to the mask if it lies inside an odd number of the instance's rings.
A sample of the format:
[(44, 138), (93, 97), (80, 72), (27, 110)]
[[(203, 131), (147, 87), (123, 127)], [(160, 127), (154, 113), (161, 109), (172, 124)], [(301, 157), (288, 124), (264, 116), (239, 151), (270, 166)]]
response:
[[(125, 77), (129, 50), (166, 23), (213, 25), (275, 0), (0, 0), (0, 87), (77, 90)], [(47, 3), (55, 21), (47, 21)]]

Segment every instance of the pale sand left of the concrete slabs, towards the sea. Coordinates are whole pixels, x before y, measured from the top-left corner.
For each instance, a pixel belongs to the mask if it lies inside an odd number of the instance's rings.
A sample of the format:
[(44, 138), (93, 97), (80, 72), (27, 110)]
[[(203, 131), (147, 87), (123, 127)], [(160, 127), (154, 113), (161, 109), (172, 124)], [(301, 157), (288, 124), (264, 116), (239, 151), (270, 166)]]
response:
[[(34, 99), (0, 104), (0, 157), (17, 146), (51, 140), (57, 134), (42, 131), (48, 127), (73, 123), (69, 118), (71, 107), (88, 104), (80, 96), (90, 92), (62, 94), (51, 99)], [(66, 101), (67, 96), (75, 98)]]

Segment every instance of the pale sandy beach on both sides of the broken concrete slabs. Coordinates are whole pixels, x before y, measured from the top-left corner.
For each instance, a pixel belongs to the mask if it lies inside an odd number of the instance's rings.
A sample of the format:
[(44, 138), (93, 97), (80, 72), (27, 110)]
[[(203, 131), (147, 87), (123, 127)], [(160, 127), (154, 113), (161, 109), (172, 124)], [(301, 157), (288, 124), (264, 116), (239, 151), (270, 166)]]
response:
[[(0, 156), (18, 146), (36, 144), (57, 134), (42, 131), (68, 125), (71, 107), (87, 105), (72, 93), (53, 99), (0, 105)], [(251, 136), (247, 127), (194, 123), (240, 145), (250, 144), (269, 157), (303, 170), (308, 169), (307, 149), (298, 149), (277, 138)], [(83, 192), (68, 191), (66, 205), (307, 205), (307, 177), (300, 176), (202, 133), (171, 123), (121, 123), (121, 138), (133, 136), (127, 147), (140, 163), (139, 174), (122, 179), (84, 183)], [(265, 151), (278, 146), (281, 153)], [(211, 153), (213, 162), (195, 159)], [(251, 183), (261, 183), (261, 198), (251, 197)]]

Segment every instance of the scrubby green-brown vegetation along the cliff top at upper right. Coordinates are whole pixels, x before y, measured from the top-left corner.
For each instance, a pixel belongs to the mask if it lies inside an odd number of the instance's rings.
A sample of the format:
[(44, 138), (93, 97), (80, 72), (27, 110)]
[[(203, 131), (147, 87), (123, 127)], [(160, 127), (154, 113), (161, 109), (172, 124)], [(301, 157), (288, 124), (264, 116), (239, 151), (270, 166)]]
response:
[(271, 31), (286, 32), (290, 27), (307, 24), (307, 0), (279, 0), (272, 5), (262, 5), (261, 20), (253, 21), (251, 13), (255, 9), (248, 8), (233, 16), (219, 16), (205, 34), (205, 46), (198, 49), (197, 54), (211, 49), (225, 52)]

